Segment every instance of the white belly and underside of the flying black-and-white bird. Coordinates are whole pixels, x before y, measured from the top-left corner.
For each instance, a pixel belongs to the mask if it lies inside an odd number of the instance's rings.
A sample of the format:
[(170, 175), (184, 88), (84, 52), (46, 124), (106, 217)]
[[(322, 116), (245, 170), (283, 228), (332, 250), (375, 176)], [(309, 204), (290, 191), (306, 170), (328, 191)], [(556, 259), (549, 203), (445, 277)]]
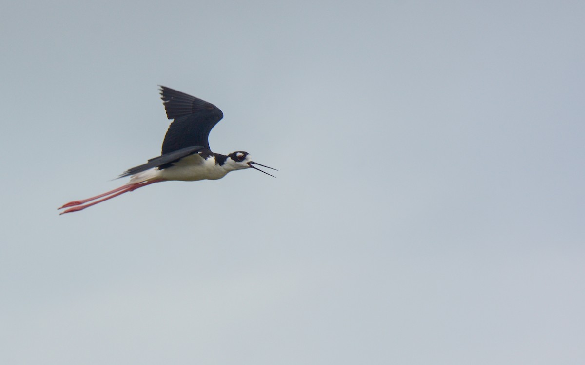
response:
[(215, 164), (214, 158), (204, 159), (200, 155), (190, 155), (166, 169), (152, 168), (132, 175), (130, 183), (139, 183), (157, 179), (163, 180), (217, 180), (227, 175), (229, 171)]

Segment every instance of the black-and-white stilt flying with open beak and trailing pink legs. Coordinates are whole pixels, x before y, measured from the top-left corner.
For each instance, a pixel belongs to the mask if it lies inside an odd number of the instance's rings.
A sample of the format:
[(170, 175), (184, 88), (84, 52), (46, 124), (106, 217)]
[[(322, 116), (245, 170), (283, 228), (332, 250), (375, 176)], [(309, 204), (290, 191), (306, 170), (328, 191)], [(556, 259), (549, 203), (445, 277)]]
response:
[(236, 151), (222, 155), (211, 151), (209, 133), (223, 118), (223, 113), (218, 107), (166, 86), (159, 85), (159, 88), (167, 119), (173, 120), (164, 136), (160, 156), (149, 159), (146, 164), (129, 168), (118, 176), (130, 178), (125, 185), (88, 199), (63, 204), (58, 210), (67, 209), (60, 214), (84, 210), (157, 182), (217, 180), (228, 172), (249, 168), (276, 177), (256, 166), (275, 171), (278, 171), (277, 169), (252, 161), (248, 152)]

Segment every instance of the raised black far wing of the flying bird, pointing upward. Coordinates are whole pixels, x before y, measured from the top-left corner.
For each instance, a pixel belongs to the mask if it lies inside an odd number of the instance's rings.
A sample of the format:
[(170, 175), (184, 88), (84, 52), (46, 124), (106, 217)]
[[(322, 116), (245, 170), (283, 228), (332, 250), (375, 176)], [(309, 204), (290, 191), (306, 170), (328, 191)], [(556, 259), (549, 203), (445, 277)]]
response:
[(174, 119), (164, 136), (161, 155), (196, 145), (209, 150), (209, 132), (223, 118), (221, 110), (166, 86), (160, 86), (160, 95), (167, 118)]

